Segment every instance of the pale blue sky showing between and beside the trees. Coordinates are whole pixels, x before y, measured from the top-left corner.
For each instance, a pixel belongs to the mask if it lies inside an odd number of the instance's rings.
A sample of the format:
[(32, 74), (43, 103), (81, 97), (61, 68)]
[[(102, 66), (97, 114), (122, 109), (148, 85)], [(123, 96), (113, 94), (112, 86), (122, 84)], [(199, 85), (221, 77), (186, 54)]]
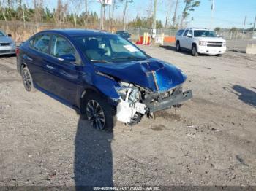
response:
[[(57, 0), (48, 0), (48, 7), (56, 6)], [(72, 7), (71, 1), (67, 1), (69, 7)], [(88, 0), (89, 11), (96, 11), (100, 14), (100, 4), (98, 0)], [(169, 22), (173, 17), (176, 0), (157, 0), (157, 20), (161, 20), (163, 25), (167, 11), (170, 11)], [(83, 1), (82, 1), (83, 2)], [(129, 4), (127, 21), (134, 19), (137, 15), (139, 17), (147, 17), (153, 12), (154, 0), (134, 0)], [(80, 11), (83, 11), (83, 3), (80, 5)], [(118, 4), (115, 17), (121, 18), (124, 9), (124, 4)], [(184, 0), (179, 0), (178, 15), (181, 15), (184, 9)], [(106, 9), (106, 17), (108, 17), (108, 8)], [(245, 28), (253, 26), (256, 17), (256, 0), (214, 0), (214, 11), (211, 20), (211, 0), (200, 0), (200, 6), (195, 8), (188, 17), (189, 27), (203, 27), (203, 28), (243, 28), (244, 18), (246, 17)], [(192, 19), (193, 18), (193, 19)]]

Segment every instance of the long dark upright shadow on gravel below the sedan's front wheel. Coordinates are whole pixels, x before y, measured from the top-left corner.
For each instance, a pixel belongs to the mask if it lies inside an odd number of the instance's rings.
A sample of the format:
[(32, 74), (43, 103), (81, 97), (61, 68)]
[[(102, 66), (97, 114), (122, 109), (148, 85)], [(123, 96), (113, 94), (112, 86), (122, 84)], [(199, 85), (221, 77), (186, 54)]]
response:
[(77, 190), (83, 190), (81, 186), (113, 186), (112, 139), (112, 132), (95, 130), (80, 118), (75, 136)]

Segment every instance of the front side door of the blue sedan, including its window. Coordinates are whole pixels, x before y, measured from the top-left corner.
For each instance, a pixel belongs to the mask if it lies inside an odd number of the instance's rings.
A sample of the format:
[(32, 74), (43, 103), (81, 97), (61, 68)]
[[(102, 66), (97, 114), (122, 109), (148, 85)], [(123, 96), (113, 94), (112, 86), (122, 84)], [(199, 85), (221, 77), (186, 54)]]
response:
[[(50, 55), (52, 58), (48, 61), (48, 69), (53, 75), (53, 93), (68, 101), (69, 104), (75, 104), (78, 85), (85, 74), (80, 55), (71, 42), (59, 34), (52, 36)], [(75, 62), (63, 59), (65, 55), (73, 55)]]

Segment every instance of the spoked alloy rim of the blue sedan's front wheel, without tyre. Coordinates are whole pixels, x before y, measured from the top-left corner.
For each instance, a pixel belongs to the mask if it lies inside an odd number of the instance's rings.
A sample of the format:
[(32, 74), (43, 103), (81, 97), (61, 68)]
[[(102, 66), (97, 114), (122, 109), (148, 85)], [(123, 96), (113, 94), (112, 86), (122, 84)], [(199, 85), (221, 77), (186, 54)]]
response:
[(86, 105), (86, 115), (91, 126), (102, 130), (105, 127), (105, 114), (102, 106), (95, 100), (88, 101)]

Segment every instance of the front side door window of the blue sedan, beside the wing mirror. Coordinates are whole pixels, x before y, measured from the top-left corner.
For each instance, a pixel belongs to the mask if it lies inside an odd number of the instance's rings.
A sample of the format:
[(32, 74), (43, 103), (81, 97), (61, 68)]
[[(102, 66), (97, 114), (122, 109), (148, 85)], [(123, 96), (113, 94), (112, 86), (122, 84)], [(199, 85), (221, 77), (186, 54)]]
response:
[(80, 64), (80, 56), (74, 47), (65, 39), (64, 37), (53, 35), (50, 44), (50, 55), (56, 58), (61, 57), (61, 55), (74, 55), (76, 63)]

